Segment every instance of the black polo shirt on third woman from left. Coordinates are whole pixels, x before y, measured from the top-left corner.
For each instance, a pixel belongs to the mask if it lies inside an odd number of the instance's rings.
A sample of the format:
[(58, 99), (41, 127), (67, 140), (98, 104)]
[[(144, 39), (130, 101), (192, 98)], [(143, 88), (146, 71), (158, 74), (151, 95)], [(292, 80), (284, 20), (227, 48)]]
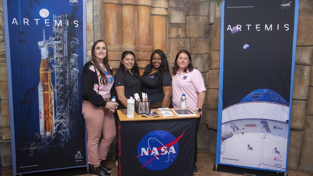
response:
[[(146, 66), (145, 72), (143, 76), (141, 76), (141, 82), (144, 92), (148, 94), (148, 99), (151, 101), (151, 104), (156, 104), (163, 101), (164, 93), (162, 87), (161, 91), (157, 89), (158, 78), (155, 77), (156, 73), (149, 75), (148, 70), (150, 70), (150, 67), (150, 64)], [(168, 71), (163, 73), (162, 86), (172, 86), (172, 77)]]

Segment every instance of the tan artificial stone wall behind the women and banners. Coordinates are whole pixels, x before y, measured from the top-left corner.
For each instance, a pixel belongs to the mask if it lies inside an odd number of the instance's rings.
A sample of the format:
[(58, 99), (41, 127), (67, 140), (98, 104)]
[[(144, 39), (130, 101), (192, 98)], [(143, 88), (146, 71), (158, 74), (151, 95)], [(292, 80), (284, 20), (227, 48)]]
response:
[[(12, 167), (8, 86), (0, 0), (0, 152)], [(288, 168), (313, 173), (313, 1), (299, 0), (299, 24), (291, 113)], [(207, 87), (198, 131), (198, 150), (215, 153), (218, 116), (221, 3), (212, 0), (86, 0), (87, 60), (97, 39), (108, 44), (116, 71), (121, 53), (131, 50), (141, 74), (151, 52), (162, 49), (171, 66), (177, 52), (187, 49)], [(115, 142), (110, 151), (115, 154)]]

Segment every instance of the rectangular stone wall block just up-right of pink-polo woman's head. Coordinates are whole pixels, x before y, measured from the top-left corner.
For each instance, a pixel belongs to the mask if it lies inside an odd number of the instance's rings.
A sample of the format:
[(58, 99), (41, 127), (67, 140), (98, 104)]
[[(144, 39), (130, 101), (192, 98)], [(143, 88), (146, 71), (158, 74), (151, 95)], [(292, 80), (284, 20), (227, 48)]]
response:
[(190, 39), (190, 51), (191, 51), (190, 54), (209, 54), (210, 53), (210, 39), (209, 38), (191, 38)]

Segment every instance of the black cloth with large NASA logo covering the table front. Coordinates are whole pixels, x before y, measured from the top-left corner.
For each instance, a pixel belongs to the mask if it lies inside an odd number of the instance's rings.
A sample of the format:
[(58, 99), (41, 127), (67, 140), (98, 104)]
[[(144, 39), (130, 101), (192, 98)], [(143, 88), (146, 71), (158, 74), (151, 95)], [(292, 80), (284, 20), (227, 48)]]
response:
[(119, 176), (191, 176), (196, 118), (119, 121)]

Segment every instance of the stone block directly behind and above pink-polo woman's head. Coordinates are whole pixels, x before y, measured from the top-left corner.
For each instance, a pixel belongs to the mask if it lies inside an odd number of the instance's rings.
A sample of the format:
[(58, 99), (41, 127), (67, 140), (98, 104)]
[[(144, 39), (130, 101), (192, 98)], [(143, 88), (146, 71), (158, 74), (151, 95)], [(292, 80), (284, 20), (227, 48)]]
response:
[(190, 52), (190, 39), (169, 39), (169, 58), (174, 63), (176, 54), (182, 49)]

